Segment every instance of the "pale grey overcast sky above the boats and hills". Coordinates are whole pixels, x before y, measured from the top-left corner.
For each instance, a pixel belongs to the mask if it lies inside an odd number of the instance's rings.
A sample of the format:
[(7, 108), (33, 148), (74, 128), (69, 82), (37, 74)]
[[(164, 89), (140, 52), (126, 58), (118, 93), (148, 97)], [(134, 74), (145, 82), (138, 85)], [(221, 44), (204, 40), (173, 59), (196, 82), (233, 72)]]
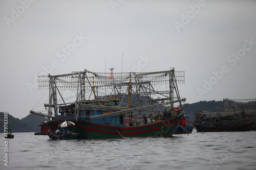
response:
[(27, 116), (45, 72), (121, 72), (122, 53), (123, 72), (184, 70), (186, 103), (256, 98), (255, 16), (256, 1), (0, 0), (0, 111)]

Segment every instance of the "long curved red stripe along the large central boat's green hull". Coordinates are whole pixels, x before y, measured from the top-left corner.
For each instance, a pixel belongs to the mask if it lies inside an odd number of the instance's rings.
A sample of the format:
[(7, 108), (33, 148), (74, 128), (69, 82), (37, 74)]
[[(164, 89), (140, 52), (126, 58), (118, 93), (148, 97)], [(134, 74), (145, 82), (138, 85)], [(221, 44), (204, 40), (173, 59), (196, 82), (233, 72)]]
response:
[[(157, 131), (159, 129), (164, 129), (164, 128), (167, 128), (169, 126), (175, 125), (175, 124), (177, 124), (177, 123), (172, 123), (172, 124), (163, 125), (163, 126), (160, 126), (160, 127), (157, 127), (157, 128), (142, 130), (142, 131), (136, 131), (136, 132), (122, 132), (121, 134), (122, 135), (135, 135), (135, 134), (147, 133), (147, 132)], [(84, 126), (81, 126), (81, 125), (75, 125), (75, 127), (90, 130), (90, 131), (95, 131), (95, 132), (108, 133), (108, 134), (117, 134), (117, 132), (115, 132), (115, 131), (107, 131), (107, 130), (89, 128), (89, 127), (84, 127)], [(164, 131), (166, 131), (166, 130), (164, 130)]]

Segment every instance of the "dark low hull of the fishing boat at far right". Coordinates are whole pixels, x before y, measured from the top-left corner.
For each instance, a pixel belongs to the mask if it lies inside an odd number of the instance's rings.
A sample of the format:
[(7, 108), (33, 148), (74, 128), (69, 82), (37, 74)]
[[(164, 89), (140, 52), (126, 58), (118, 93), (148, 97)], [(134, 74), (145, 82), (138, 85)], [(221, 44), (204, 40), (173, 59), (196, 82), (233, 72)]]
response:
[(229, 126), (229, 127), (204, 127), (199, 125), (195, 126), (197, 132), (241, 132), (241, 131), (250, 131), (250, 127), (251, 127), (251, 124)]

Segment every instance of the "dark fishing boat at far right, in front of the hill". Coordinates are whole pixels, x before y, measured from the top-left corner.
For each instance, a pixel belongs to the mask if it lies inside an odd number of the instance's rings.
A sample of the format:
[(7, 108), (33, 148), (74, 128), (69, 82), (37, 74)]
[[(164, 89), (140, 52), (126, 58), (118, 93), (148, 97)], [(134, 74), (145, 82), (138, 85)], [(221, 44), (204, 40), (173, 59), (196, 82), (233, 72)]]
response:
[(244, 112), (196, 112), (195, 128), (197, 132), (239, 132), (250, 131), (252, 126)]

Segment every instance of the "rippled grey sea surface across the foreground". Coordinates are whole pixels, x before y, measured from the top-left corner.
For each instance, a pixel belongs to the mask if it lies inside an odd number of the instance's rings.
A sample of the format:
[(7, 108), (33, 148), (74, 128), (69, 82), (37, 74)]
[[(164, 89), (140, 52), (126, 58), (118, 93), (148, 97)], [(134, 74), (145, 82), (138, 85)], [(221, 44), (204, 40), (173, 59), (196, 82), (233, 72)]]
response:
[(14, 135), (5, 152), (1, 134), (0, 169), (256, 169), (256, 131), (104, 140)]

